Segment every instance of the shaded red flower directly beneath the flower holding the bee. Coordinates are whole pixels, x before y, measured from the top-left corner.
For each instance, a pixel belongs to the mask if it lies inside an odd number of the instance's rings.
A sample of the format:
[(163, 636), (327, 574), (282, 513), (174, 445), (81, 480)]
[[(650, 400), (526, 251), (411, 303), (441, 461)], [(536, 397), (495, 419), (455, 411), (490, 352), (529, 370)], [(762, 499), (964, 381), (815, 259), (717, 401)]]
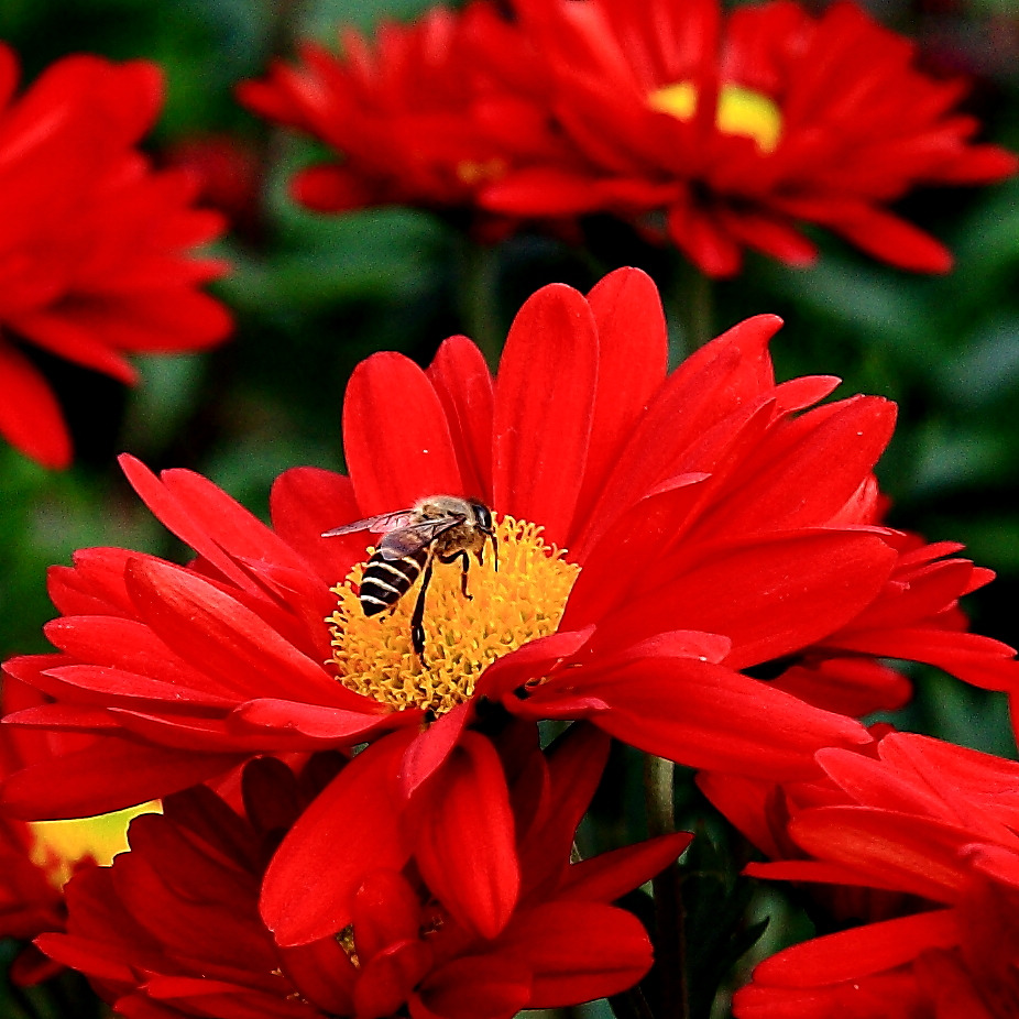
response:
[[(473, 735), (413, 820), (396, 807), (401, 743), (359, 754), (300, 817), (307, 778), (269, 759), (245, 768), (239, 814), (201, 787), (169, 798), (132, 824), (130, 853), (72, 881), (67, 934), (40, 945), (125, 1016), (508, 1019), (647, 972), (647, 935), (607, 903), (690, 836), (570, 864), (607, 739), (574, 732), (547, 757), (532, 749), (507, 786)], [(321, 817), (328, 845), (305, 843)], [(266, 859), (295, 818), (260, 916)]]

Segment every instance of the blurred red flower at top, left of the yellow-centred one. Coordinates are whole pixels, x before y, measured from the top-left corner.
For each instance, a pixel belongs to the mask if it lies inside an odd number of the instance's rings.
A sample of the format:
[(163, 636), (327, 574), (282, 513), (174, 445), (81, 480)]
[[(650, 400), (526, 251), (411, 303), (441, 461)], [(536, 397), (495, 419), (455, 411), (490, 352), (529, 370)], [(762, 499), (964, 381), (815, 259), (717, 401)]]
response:
[(502, 59), (522, 42), (487, 2), (461, 13), (436, 8), (412, 25), (383, 24), (374, 45), (353, 29), (340, 34), (337, 57), (314, 43), (300, 63), (276, 62), (261, 81), (238, 89), (241, 101), (271, 120), (319, 139), (341, 162), (294, 178), (294, 197), (337, 212), (390, 202), (470, 212), (498, 228), (474, 201), (479, 187), (503, 173), (502, 147), (473, 116), (478, 67), (469, 42), (494, 33)]

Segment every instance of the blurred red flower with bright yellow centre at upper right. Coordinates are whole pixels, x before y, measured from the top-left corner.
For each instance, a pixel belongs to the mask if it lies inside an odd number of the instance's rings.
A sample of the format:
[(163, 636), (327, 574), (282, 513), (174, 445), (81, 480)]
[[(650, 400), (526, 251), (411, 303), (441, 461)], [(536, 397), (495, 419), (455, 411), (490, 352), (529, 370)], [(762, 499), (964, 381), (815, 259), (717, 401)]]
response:
[(809, 263), (801, 222), (944, 272), (944, 246), (889, 204), (1017, 167), (971, 143), (961, 83), (918, 70), (913, 45), (851, 3), (820, 17), (788, 0), (724, 17), (719, 0), (514, 6), (539, 66), (503, 75), (516, 107), (500, 106), (506, 168), (480, 196), (492, 211), (610, 211), (713, 276), (735, 273), (744, 248)]

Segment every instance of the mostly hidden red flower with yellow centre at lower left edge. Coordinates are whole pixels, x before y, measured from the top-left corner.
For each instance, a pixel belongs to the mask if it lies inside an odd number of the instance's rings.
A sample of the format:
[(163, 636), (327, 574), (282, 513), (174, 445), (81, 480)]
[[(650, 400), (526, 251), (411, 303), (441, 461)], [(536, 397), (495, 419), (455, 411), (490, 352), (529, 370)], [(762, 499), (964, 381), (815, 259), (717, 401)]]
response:
[[(31, 687), (8, 678), (4, 711), (37, 706), (45, 699)], [(90, 736), (0, 727), (0, 776), (75, 749)], [(141, 810), (154, 810), (146, 804)], [(31, 942), (46, 931), (62, 931), (67, 910), (64, 886), (81, 867), (106, 866), (128, 847), (128, 822), (141, 812), (130, 809), (75, 821), (25, 822), (0, 814), (0, 938)], [(35, 984), (61, 967), (28, 945), (11, 965), (14, 984)]]

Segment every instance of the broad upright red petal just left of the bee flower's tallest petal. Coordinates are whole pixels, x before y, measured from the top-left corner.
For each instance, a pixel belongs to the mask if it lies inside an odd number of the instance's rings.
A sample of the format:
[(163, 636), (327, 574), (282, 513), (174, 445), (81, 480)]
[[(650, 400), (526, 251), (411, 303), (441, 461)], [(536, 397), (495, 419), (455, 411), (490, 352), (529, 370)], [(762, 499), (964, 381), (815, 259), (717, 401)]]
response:
[(583, 481), (598, 382), (598, 331), (587, 300), (543, 287), (521, 308), (495, 384), (492, 501), (567, 544)]

